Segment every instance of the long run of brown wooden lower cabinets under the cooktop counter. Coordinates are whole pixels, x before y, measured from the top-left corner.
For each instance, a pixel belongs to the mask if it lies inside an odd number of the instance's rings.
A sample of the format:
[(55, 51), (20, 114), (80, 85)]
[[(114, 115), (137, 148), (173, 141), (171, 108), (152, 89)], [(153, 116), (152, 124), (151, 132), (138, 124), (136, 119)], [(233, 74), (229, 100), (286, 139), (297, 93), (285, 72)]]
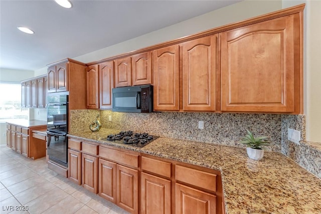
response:
[(224, 213), (220, 171), (69, 138), (69, 179), (130, 213)]

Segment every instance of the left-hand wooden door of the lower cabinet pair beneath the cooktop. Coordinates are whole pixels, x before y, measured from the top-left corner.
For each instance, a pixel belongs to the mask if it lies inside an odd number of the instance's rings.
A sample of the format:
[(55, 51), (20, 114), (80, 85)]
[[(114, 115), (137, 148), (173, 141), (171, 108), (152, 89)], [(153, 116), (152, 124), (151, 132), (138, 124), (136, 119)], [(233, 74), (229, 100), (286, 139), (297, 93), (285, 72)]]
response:
[(99, 159), (98, 176), (99, 195), (116, 203), (116, 163)]

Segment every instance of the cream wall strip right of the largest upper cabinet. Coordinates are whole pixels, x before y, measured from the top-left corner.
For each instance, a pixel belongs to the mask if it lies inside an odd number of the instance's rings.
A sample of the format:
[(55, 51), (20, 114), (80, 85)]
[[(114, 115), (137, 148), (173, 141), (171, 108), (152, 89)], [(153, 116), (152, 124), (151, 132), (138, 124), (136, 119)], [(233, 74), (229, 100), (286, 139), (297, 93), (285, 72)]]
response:
[(321, 142), (321, 1), (283, 0), (282, 8), (305, 3), (303, 35), (306, 140)]

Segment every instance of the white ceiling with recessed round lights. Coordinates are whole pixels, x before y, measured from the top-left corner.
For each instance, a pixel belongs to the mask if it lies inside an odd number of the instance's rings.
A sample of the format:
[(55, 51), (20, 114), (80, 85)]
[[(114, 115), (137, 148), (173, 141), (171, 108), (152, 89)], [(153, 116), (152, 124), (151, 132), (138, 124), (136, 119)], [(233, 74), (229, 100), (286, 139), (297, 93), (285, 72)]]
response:
[(71, 2), (65, 9), (54, 0), (0, 0), (0, 68), (37, 70), (240, 1)]

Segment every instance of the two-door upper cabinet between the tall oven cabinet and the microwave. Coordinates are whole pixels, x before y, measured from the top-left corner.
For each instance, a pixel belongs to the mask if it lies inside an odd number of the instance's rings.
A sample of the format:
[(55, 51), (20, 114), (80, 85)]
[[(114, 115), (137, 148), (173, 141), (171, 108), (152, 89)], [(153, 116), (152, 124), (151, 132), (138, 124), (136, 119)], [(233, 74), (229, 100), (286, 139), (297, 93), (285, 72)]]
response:
[(114, 62), (87, 66), (87, 109), (111, 109)]

